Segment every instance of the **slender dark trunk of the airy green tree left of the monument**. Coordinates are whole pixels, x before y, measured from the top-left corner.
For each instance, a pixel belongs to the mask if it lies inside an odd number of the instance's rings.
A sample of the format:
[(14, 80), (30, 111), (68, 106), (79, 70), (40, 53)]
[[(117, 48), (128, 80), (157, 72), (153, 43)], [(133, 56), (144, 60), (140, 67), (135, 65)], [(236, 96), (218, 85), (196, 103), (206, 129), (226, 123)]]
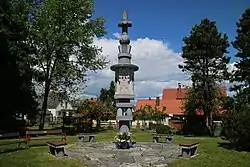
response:
[(46, 82), (45, 83), (44, 98), (43, 98), (42, 114), (41, 114), (41, 117), (40, 117), (39, 130), (44, 129), (46, 111), (47, 111), (47, 106), (48, 106), (48, 96), (49, 96), (49, 83)]

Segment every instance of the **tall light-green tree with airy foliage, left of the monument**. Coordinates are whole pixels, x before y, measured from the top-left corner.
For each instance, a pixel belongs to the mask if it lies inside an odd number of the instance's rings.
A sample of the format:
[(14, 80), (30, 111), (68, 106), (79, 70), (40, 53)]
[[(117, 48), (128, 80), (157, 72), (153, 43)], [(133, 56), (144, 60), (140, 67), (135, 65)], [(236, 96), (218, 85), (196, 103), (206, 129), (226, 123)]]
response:
[(40, 129), (50, 90), (70, 95), (85, 82), (87, 71), (107, 64), (101, 48), (93, 45), (94, 37), (106, 33), (105, 20), (91, 19), (93, 12), (93, 0), (44, 0), (33, 7), (29, 42), (37, 48), (33, 57), (44, 97)]

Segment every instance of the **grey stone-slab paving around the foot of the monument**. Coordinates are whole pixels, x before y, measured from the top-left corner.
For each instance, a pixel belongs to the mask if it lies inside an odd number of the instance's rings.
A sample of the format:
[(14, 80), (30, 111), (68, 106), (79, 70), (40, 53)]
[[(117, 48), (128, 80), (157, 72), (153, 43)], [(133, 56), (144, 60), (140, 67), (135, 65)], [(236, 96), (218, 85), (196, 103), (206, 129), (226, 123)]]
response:
[(112, 142), (84, 142), (69, 146), (66, 154), (84, 160), (89, 167), (165, 167), (177, 159), (180, 150), (164, 143), (137, 143), (134, 148), (121, 150)]

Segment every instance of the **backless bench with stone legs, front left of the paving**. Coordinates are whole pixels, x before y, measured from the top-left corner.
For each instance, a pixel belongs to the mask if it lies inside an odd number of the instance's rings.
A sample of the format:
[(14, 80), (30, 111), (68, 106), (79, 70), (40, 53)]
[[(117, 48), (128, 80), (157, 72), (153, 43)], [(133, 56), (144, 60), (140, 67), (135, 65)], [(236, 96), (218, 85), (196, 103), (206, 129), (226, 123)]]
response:
[(65, 141), (47, 141), (47, 145), (52, 155), (58, 157), (65, 155), (64, 146), (67, 145)]

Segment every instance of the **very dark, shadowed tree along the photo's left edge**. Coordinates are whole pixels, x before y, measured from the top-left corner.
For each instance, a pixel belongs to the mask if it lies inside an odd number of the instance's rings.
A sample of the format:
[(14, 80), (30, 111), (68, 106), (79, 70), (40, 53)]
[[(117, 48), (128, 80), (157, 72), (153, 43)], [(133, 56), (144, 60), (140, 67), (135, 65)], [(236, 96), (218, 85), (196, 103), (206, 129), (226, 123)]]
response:
[[(1, 100), (0, 128), (15, 127), (21, 115), (36, 115), (35, 91), (32, 84), (32, 48), (26, 43), (29, 1), (3, 0), (0, 2), (0, 66)], [(13, 105), (9, 105), (9, 104)], [(18, 126), (18, 125), (16, 125)]]

